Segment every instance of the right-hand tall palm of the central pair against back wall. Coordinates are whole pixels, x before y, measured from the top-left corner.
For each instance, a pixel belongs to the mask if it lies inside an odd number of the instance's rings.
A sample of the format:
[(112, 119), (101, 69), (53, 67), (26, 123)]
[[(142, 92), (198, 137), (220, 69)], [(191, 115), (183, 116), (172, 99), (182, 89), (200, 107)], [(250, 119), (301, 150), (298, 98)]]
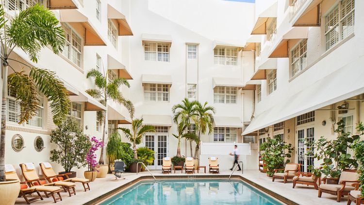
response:
[(194, 158), (196, 159), (197, 154), (199, 153), (199, 146), (201, 141), (201, 134), (205, 134), (207, 129), (209, 130), (209, 134), (214, 132), (213, 123), (214, 123), (214, 116), (215, 108), (213, 106), (208, 106), (207, 102), (203, 105), (198, 103), (196, 105), (196, 114), (197, 117), (194, 118), (196, 129), (199, 131), (199, 143), (196, 144), (195, 148), (195, 155)]

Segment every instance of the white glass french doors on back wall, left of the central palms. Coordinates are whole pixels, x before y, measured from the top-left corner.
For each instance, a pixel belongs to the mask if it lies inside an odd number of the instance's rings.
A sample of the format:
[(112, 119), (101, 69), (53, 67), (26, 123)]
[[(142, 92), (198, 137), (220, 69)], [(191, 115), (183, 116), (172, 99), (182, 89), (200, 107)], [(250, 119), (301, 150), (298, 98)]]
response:
[(162, 169), (163, 158), (167, 156), (167, 134), (145, 135), (146, 146), (155, 152), (154, 161), (148, 165), (149, 169)]

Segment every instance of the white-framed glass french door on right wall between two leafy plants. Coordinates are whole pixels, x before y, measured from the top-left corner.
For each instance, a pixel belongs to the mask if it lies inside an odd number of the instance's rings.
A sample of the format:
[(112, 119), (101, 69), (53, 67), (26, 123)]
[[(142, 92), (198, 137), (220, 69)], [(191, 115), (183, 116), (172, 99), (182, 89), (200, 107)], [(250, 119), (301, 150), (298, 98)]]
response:
[[(301, 164), (301, 172), (311, 172), (309, 166), (314, 166), (314, 156), (312, 146), (307, 146), (306, 138), (310, 142), (314, 142), (314, 128), (313, 127), (300, 127), (297, 128), (297, 158), (298, 163)], [(308, 154), (311, 151), (311, 154)]]

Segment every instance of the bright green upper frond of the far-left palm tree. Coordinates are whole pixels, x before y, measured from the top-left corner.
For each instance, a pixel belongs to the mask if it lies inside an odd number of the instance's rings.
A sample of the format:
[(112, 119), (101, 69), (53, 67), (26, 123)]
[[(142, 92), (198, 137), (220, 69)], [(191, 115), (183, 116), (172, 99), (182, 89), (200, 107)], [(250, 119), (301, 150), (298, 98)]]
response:
[(64, 30), (58, 19), (39, 4), (20, 11), (6, 27), (10, 47), (20, 47), (34, 62), (43, 47), (50, 45), (53, 52), (59, 54), (65, 45)]

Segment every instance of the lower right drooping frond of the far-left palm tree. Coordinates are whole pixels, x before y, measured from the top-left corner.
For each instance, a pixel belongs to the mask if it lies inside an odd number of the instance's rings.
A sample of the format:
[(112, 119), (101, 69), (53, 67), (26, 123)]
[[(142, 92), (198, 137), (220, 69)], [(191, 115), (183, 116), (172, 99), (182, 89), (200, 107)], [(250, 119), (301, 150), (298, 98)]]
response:
[(53, 122), (56, 125), (60, 124), (66, 119), (70, 107), (66, 88), (62, 81), (56, 77), (55, 72), (40, 68), (31, 68), (29, 76), (50, 102)]

